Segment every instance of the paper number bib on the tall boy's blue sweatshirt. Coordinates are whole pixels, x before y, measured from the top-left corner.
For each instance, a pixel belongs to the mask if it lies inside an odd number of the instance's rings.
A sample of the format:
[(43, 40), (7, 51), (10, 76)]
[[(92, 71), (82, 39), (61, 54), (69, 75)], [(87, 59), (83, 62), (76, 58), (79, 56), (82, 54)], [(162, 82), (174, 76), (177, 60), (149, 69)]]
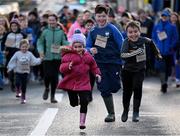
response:
[(107, 44), (107, 37), (97, 35), (95, 45), (101, 48), (106, 48), (106, 44)]

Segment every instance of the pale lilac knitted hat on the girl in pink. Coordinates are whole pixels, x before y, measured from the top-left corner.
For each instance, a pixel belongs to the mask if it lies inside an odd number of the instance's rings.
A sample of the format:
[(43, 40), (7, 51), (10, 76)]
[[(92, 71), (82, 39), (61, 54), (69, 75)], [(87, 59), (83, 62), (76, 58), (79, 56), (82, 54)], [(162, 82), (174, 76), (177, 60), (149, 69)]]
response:
[(86, 37), (81, 31), (75, 32), (72, 36), (72, 45), (76, 42), (82, 43), (84, 46), (86, 45)]

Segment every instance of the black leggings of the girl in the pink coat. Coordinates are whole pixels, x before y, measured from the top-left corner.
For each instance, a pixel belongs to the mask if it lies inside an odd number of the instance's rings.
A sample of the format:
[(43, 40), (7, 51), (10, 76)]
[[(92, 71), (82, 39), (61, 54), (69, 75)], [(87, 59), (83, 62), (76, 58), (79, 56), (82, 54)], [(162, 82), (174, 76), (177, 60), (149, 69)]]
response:
[(87, 113), (90, 91), (67, 91), (72, 107), (80, 104), (80, 113)]

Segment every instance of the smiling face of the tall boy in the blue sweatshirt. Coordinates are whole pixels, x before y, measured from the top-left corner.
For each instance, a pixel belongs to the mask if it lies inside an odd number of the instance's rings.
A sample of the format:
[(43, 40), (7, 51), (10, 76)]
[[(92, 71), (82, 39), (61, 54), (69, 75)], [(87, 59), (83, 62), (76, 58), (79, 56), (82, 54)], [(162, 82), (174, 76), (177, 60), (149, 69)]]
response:
[(100, 27), (103, 27), (107, 23), (108, 16), (105, 12), (102, 13), (96, 13), (96, 22)]

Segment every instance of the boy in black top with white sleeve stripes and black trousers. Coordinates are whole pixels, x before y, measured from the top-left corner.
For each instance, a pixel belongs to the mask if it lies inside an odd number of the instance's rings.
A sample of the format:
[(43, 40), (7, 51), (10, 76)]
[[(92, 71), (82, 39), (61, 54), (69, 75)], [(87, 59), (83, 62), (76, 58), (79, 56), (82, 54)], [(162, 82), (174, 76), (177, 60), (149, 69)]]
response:
[(129, 105), (132, 93), (133, 96), (133, 116), (132, 121), (139, 121), (139, 107), (142, 98), (142, 85), (146, 68), (146, 50), (152, 50), (153, 54), (158, 59), (162, 59), (159, 50), (151, 39), (140, 37), (140, 23), (130, 21), (126, 26), (127, 39), (125, 39), (121, 57), (124, 60), (122, 69), (122, 84), (123, 84), (123, 114), (122, 122), (128, 119)]

